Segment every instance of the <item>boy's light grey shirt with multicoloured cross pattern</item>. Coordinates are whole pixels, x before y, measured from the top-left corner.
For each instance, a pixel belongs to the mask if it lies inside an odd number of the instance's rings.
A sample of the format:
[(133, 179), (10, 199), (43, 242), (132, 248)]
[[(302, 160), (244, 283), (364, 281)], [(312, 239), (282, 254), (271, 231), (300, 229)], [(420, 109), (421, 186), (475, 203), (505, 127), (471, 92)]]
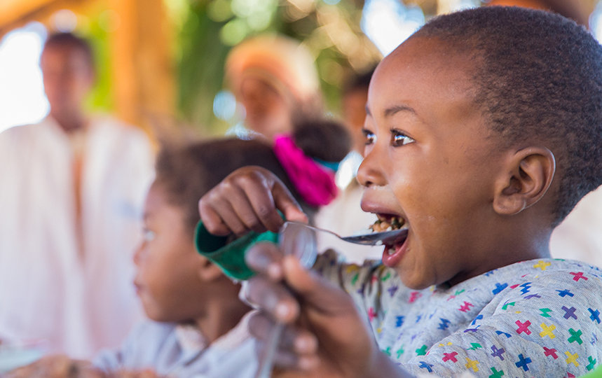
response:
[(531, 260), (451, 288), (410, 290), (382, 265), (356, 267), (352, 276), (334, 260), (334, 254), (320, 256), (322, 274), (353, 296), (381, 349), (413, 373), (577, 377), (598, 366), (602, 274), (596, 267)]

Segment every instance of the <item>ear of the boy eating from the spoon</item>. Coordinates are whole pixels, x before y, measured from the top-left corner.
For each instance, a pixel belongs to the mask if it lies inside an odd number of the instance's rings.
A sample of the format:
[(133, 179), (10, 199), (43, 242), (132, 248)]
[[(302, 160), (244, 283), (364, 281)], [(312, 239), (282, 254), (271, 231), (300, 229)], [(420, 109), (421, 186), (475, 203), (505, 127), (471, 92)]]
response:
[(545, 147), (528, 147), (509, 156), (507, 170), (495, 183), (493, 209), (519, 214), (538, 202), (552, 185), (556, 160)]

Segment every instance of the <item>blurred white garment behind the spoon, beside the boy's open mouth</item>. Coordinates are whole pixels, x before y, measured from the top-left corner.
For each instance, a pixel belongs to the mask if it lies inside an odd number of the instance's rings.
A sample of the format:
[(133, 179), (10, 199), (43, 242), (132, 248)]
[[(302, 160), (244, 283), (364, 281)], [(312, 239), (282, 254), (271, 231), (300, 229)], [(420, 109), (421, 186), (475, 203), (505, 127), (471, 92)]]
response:
[[(357, 158), (360, 156), (360, 158)], [(362, 162), (361, 155), (350, 153), (348, 158), (341, 162), (337, 172), (337, 184), (344, 183), (346, 188), (340, 190), (333, 202), (322, 207), (315, 216), (315, 225), (319, 228), (331, 230), (341, 236), (360, 235), (371, 232), (369, 226), (376, 221), (376, 215), (362, 210), (362, 194), (364, 190), (355, 174), (357, 167)], [(345, 177), (341, 180), (341, 173)], [(383, 246), (360, 246), (350, 244), (324, 232), (317, 234), (317, 251), (323, 252), (334, 249), (344, 260), (349, 263), (362, 264), (364, 260), (380, 260), (383, 255)]]

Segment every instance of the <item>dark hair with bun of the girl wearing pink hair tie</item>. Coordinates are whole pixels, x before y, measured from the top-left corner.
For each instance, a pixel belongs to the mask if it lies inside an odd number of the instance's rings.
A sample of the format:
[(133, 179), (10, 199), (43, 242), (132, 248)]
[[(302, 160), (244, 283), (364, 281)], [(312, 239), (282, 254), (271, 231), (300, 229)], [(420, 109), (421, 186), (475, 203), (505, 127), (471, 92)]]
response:
[[(308, 157), (327, 162), (338, 162), (350, 151), (346, 129), (330, 120), (296, 125), (292, 138)], [(224, 138), (164, 146), (156, 161), (156, 183), (165, 189), (170, 203), (186, 211), (186, 224), (192, 232), (200, 219), (200, 197), (235, 169), (248, 165), (264, 167), (278, 176), (313, 221), (317, 208), (303, 201), (272, 146), (259, 139)]]

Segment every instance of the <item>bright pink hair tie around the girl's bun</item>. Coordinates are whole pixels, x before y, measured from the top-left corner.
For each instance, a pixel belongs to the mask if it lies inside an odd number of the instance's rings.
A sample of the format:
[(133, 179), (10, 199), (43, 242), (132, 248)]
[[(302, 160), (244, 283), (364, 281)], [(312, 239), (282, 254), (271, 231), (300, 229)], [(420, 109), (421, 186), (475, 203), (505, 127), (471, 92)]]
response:
[(334, 200), (337, 188), (332, 169), (305, 155), (287, 135), (275, 137), (274, 153), (297, 192), (310, 206), (323, 206)]

